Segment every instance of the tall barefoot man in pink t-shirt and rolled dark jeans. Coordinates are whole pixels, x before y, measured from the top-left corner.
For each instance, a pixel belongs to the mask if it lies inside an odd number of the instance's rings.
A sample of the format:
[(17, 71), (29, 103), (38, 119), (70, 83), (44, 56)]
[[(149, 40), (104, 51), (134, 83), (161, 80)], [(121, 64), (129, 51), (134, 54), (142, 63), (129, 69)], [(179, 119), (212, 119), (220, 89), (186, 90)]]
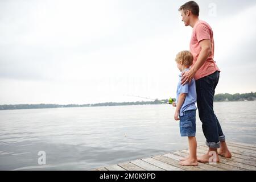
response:
[[(209, 158), (216, 154), (231, 158), (225, 142), (225, 135), (218, 119), (213, 111), (214, 90), (218, 84), (220, 69), (218, 69), (214, 56), (213, 31), (207, 22), (199, 19), (199, 5), (194, 1), (189, 1), (180, 6), (179, 11), (185, 26), (193, 28), (190, 52), (194, 60), (191, 69), (185, 72), (181, 78), (181, 84), (190, 82), (192, 78), (196, 80), (197, 107), (202, 128), (209, 150), (207, 154), (199, 156), (199, 162), (209, 162)], [(217, 151), (217, 148), (220, 148)], [(216, 162), (219, 162), (216, 155)]]

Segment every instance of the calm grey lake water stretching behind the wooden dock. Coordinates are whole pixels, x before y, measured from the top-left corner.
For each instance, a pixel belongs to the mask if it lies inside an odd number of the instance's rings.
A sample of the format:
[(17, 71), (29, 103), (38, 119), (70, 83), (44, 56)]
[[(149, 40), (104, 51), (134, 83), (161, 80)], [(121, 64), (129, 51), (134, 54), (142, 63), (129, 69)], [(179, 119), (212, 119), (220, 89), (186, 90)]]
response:
[[(256, 102), (216, 102), (226, 140), (256, 144)], [(0, 170), (89, 170), (188, 148), (171, 105), (0, 111)], [(197, 142), (205, 138), (197, 114)], [(39, 151), (46, 165), (39, 165)]]

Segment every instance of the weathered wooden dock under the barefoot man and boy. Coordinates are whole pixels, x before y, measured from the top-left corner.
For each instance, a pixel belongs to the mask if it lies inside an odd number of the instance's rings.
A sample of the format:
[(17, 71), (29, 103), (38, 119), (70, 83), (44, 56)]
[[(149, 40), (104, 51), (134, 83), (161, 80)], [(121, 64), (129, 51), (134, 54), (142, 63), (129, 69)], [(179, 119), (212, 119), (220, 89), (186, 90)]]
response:
[[(96, 171), (255, 171), (256, 145), (237, 142), (228, 142), (232, 158), (219, 156), (216, 164), (199, 163), (198, 166), (181, 166), (179, 159), (188, 155), (188, 149), (150, 156), (148, 158), (131, 160), (94, 169)], [(198, 146), (197, 155), (205, 154), (207, 146)]]

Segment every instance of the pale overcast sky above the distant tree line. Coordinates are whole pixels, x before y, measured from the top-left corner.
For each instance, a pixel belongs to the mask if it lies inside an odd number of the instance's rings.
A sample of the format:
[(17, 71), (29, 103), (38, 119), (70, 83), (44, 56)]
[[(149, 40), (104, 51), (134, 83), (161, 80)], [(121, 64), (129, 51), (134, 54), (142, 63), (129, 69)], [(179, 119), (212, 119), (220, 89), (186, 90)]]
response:
[[(184, 2), (0, 0), (0, 104), (175, 97)], [(256, 92), (256, 2), (196, 2), (214, 32), (216, 93)]]

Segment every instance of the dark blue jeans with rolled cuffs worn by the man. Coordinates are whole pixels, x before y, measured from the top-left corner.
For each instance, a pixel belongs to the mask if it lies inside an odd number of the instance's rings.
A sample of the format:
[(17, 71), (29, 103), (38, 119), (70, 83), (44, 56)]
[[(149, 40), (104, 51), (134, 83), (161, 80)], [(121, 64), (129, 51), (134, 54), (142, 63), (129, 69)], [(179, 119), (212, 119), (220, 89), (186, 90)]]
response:
[(220, 148), (220, 142), (225, 141), (220, 123), (213, 111), (213, 97), (218, 84), (220, 73), (218, 71), (211, 75), (196, 80), (197, 108), (206, 144), (210, 148)]

